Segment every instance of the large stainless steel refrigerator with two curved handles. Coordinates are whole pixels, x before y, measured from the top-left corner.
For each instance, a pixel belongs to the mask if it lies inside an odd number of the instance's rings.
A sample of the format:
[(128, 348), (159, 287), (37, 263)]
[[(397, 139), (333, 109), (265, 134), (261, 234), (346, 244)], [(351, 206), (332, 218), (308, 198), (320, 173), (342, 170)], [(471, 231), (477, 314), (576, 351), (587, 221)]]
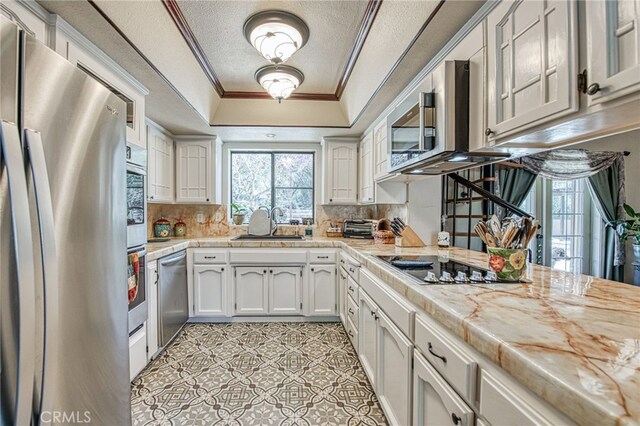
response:
[(125, 103), (0, 16), (1, 424), (131, 423)]

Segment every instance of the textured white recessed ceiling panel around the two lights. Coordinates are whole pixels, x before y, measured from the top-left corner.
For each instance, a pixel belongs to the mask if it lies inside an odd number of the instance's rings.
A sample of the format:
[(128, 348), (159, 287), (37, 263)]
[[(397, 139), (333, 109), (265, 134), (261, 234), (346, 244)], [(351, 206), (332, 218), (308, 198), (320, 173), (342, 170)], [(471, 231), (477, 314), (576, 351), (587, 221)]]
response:
[(287, 61), (300, 69), (305, 93), (334, 93), (354, 46), (367, 0), (350, 1), (179, 1), (224, 90), (261, 91), (253, 78), (268, 62), (245, 40), (246, 19), (256, 12), (286, 10), (309, 26), (307, 44)]

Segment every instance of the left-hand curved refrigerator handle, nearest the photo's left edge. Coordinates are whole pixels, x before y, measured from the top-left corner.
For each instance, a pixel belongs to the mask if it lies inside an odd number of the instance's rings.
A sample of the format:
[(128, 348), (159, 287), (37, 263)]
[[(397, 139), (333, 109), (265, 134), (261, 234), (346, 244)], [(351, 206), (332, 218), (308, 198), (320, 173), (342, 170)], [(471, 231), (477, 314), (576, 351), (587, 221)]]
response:
[[(14, 423), (31, 424), (35, 372), (35, 274), (27, 177), (20, 132), (14, 123), (0, 122), (1, 157), (7, 174), (18, 284), (18, 383)], [(2, 161), (0, 161), (1, 163)]]

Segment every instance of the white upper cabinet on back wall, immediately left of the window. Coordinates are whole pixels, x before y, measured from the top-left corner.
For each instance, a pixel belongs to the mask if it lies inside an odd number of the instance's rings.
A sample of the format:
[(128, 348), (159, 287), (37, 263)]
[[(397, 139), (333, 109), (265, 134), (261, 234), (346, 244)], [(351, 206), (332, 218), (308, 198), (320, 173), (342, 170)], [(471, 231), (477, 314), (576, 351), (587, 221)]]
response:
[[(221, 143), (217, 139), (176, 137), (176, 202), (219, 204)], [(216, 155), (218, 154), (218, 155)], [(218, 197), (218, 198), (215, 198)]]

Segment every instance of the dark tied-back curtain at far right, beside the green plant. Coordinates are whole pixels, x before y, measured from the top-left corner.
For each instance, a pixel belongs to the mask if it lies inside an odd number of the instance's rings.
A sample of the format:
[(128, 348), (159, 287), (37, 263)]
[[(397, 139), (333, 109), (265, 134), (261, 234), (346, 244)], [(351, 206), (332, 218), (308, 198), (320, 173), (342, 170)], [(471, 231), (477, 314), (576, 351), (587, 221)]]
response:
[(624, 280), (625, 252), (616, 233), (614, 221), (624, 218), (620, 200), (624, 200), (624, 160), (622, 157), (608, 168), (589, 176), (589, 190), (597, 201), (596, 206), (606, 223), (603, 278), (622, 282)]

